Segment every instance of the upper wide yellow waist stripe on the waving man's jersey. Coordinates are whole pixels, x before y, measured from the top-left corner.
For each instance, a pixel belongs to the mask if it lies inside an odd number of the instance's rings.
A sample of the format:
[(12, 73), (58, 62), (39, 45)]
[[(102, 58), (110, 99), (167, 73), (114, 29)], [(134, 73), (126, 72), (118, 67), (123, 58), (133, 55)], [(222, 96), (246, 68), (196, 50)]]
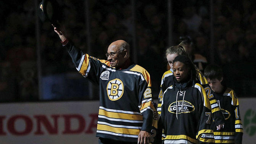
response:
[(108, 111), (102, 110), (102, 109), (99, 109), (99, 115), (104, 115), (109, 118), (121, 118), (121, 119), (126, 119), (126, 120), (143, 120), (142, 115), (108, 112)]

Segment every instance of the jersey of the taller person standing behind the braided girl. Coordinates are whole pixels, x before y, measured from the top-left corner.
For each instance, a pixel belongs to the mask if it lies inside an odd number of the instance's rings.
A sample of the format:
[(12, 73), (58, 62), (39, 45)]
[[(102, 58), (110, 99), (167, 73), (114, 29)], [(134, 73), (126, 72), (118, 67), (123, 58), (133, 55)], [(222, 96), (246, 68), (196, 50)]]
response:
[[(201, 86), (204, 88), (208, 87), (209, 84), (204, 76), (199, 73), (200, 76), (200, 83)], [(174, 84), (174, 79), (175, 77), (173, 76), (173, 73), (171, 70), (166, 71), (163, 76), (162, 76), (162, 81), (161, 81), (161, 86), (160, 86), (160, 92), (158, 96), (158, 105), (157, 105), (157, 112), (161, 114), (161, 105), (162, 105), (162, 99), (163, 99), (163, 92), (169, 87)], [(211, 104), (211, 112), (212, 112), (212, 117), (215, 118), (216, 123), (215, 125), (220, 125), (224, 123), (224, 118), (222, 116), (221, 110), (219, 108), (219, 104), (217, 103), (217, 100), (214, 98), (213, 93), (210, 91), (211, 89), (205, 89), (207, 98), (210, 101)]]

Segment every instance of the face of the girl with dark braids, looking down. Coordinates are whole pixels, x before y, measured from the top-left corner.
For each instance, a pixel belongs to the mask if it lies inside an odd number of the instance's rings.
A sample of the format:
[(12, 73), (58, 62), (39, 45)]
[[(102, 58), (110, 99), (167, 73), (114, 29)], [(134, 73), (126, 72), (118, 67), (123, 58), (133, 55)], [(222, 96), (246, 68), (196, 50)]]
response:
[(190, 71), (190, 68), (188, 66), (184, 65), (184, 63), (181, 63), (180, 61), (175, 61), (173, 63), (173, 75), (179, 82), (183, 82), (188, 78), (188, 72)]

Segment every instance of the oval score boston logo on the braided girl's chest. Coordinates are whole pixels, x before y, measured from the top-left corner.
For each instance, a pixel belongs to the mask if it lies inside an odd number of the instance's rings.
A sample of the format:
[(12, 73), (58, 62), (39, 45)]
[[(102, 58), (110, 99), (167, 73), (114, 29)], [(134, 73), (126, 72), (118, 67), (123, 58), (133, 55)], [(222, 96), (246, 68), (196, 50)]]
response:
[[(177, 101), (177, 104), (178, 104), (178, 113), (190, 113), (190, 112), (194, 111), (194, 105), (186, 100), (184, 100), (184, 101), (179, 100), (179, 101)], [(169, 105), (168, 111), (170, 113), (177, 112), (176, 102), (173, 102), (172, 104)]]

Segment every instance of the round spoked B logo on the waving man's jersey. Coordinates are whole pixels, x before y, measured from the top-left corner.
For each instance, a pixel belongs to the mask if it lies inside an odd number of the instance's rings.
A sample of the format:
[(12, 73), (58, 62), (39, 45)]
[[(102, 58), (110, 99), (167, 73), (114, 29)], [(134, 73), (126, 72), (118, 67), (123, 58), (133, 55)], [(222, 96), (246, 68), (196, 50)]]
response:
[(123, 82), (120, 79), (113, 79), (107, 84), (107, 95), (110, 100), (118, 100), (123, 95)]

